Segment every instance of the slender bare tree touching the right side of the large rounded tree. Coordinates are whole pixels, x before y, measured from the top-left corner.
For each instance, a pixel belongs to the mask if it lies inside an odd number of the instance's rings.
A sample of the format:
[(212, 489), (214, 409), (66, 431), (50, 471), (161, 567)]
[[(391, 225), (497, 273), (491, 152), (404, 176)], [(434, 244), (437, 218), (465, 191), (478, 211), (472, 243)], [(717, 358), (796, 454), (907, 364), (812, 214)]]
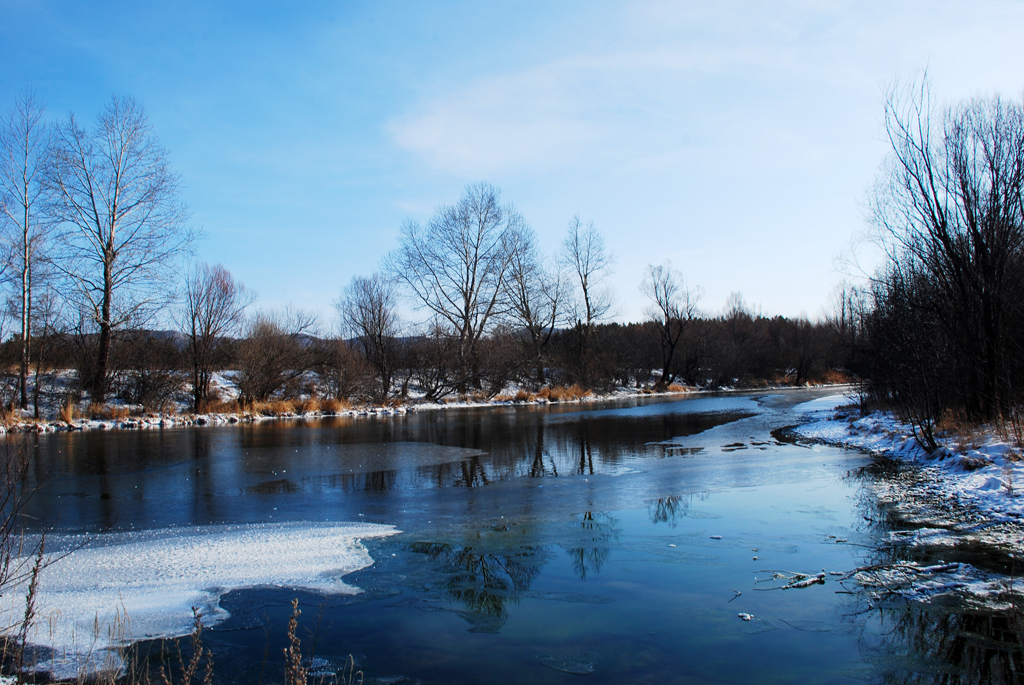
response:
[(537, 382), (544, 385), (544, 349), (551, 342), (561, 312), (562, 281), (558, 271), (545, 268), (531, 228), (523, 226), (516, 239), (507, 285), (509, 314), (525, 336)]

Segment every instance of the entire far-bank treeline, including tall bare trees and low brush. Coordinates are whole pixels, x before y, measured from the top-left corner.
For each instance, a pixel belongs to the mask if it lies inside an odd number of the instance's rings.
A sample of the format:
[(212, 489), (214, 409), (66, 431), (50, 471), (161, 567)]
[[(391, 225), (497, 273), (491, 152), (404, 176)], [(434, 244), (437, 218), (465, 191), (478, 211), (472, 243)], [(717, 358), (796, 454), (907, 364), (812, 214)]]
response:
[(113, 98), (86, 129), (74, 115), (48, 123), (24, 95), (0, 122), (0, 154), (7, 406), (209, 410), (236, 399), (217, 391), (218, 371), (231, 372), (242, 404), (803, 384), (855, 371), (845, 319), (767, 317), (738, 295), (722, 314), (701, 313), (699, 289), (669, 263), (640, 285), (646, 319), (610, 323), (614, 260), (594, 224), (574, 217), (544, 255), (486, 183), (407, 222), (378, 270), (342, 289), (336, 320), (322, 322), (253, 311), (225, 268), (189, 261), (178, 177), (134, 100)]

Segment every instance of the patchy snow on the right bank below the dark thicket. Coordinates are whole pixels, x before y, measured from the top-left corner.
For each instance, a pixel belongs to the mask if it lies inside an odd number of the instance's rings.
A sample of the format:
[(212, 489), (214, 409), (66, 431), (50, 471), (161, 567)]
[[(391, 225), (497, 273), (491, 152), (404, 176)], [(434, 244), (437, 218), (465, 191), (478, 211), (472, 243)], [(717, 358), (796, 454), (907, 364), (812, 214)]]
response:
[[(806, 402), (799, 408), (806, 423), (794, 430), (806, 439), (865, 449), (909, 467), (869, 484), (877, 500), (910, 528), (891, 531), (891, 547), (936, 558), (978, 548), (1007, 561), (1024, 554), (1024, 497), (1018, 490), (1024, 486), (1024, 461), (1016, 445), (989, 427), (940, 434), (942, 446), (929, 453), (912, 427), (892, 414), (861, 417), (858, 409), (843, 406), (853, 399), (837, 395)], [(893, 563), (853, 577), (879, 597), (931, 601), (954, 595), (989, 608), (1006, 605), (1009, 592), (1022, 590), (1014, 579), (971, 563)]]

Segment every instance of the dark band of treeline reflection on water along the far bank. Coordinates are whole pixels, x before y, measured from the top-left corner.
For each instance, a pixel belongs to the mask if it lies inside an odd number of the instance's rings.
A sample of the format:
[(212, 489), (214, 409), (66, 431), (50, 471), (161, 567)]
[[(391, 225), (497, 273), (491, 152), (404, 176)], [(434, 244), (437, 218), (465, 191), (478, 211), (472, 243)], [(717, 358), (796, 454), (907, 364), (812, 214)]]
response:
[(291, 516), (309, 508), (305, 516), (318, 518), (323, 508), (307, 496), (622, 473), (667, 455), (648, 443), (735, 421), (755, 406), (749, 397), (718, 398), (31, 435), (41, 486), (30, 513), (46, 525), (59, 512), (60, 527), (94, 531), (276, 520), (288, 498)]

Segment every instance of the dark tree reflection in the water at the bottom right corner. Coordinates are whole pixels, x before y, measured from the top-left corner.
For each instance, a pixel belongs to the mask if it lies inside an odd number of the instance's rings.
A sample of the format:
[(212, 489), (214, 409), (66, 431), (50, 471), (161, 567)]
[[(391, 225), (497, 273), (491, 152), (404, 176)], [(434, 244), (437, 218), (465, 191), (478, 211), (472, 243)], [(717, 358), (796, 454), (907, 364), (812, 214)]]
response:
[(1020, 611), (968, 612), (906, 605), (881, 610), (878, 680), (891, 685), (1024, 683)]

